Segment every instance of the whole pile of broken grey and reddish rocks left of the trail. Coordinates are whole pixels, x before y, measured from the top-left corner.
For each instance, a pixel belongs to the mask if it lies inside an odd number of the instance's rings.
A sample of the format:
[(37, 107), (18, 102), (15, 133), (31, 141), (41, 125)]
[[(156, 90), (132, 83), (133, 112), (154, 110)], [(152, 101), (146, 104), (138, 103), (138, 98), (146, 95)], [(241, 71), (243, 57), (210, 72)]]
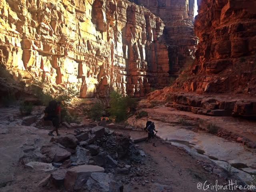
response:
[[(37, 158), (37, 162), (33, 157), (26, 159), (26, 167), (51, 172), (48, 183), (71, 192), (81, 189), (122, 192), (116, 174), (125, 176), (133, 163), (143, 162), (129, 136), (103, 126), (80, 128), (74, 134), (52, 137), (38, 154), (42, 158)], [(46, 183), (42, 181), (40, 185)]]

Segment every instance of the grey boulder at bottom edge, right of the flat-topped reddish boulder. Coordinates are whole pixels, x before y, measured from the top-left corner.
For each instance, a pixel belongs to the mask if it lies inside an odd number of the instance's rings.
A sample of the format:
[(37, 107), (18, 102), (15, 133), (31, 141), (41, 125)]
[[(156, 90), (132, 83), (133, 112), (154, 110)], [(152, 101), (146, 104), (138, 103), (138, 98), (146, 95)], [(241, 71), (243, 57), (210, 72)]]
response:
[(122, 184), (114, 180), (112, 173), (92, 173), (86, 182), (89, 190), (97, 192), (123, 192)]

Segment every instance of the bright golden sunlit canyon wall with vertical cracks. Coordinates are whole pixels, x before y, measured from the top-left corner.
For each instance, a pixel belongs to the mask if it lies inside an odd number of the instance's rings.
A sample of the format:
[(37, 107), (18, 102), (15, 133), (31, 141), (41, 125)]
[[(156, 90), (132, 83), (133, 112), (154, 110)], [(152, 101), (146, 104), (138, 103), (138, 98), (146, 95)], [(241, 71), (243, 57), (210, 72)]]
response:
[(144, 96), (169, 83), (164, 22), (126, 0), (1, 0), (0, 62), (16, 78)]

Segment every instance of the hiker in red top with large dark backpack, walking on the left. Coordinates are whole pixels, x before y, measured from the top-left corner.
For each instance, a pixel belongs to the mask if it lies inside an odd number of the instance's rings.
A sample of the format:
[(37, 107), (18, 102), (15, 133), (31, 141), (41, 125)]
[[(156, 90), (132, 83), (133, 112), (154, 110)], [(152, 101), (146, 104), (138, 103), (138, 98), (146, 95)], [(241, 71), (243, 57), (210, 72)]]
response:
[(60, 101), (56, 102), (55, 100), (52, 100), (49, 102), (48, 106), (44, 110), (44, 120), (52, 121), (52, 124), (55, 127), (54, 130), (48, 133), (48, 135), (50, 136), (54, 136), (54, 134), (52, 134), (54, 131), (56, 131), (57, 136), (60, 136), (60, 134), (58, 133), (58, 128), (60, 126), (60, 105)]

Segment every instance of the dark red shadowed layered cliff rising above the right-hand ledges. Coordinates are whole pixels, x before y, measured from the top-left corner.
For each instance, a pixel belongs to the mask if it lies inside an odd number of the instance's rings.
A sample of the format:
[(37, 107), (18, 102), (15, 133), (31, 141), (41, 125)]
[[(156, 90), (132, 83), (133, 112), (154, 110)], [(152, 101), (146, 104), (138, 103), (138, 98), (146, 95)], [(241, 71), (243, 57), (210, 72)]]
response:
[(256, 1), (198, 3), (196, 62), (170, 91), (256, 94)]

